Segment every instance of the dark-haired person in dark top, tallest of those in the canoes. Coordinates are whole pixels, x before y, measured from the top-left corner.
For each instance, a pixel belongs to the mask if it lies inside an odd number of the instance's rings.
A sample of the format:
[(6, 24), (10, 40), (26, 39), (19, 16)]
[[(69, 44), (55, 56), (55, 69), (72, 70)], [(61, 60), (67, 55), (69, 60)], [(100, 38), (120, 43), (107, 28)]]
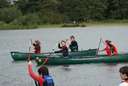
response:
[(69, 45), (69, 48), (70, 48), (71, 52), (78, 51), (78, 43), (75, 40), (75, 37), (73, 35), (70, 36), (70, 40), (71, 40), (71, 44)]

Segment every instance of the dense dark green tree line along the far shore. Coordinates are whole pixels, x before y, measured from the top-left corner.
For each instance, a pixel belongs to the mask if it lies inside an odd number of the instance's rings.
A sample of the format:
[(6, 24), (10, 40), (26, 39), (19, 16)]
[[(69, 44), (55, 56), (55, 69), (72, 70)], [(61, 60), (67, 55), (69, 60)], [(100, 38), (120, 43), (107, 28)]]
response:
[(0, 0), (0, 23), (59, 24), (128, 19), (128, 0)]

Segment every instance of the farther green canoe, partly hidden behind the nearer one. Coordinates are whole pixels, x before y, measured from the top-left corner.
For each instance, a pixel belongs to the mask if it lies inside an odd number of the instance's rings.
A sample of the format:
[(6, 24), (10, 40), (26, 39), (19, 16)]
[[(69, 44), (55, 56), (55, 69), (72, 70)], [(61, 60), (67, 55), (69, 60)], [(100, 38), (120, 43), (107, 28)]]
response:
[[(69, 52), (70, 58), (73, 57), (85, 57), (85, 56), (95, 56), (97, 52), (97, 49), (88, 49), (88, 50), (81, 50), (78, 52)], [(24, 52), (16, 52), (13, 51), (11, 52), (11, 57), (13, 58), (14, 61), (22, 61), (22, 60), (27, 60), (28, 56), (31, 55), (31, 59), (35, 59), (36, 57), (39, 58), (46, 58), (46, 57), (62, 57), (62, 53), (41, 53), (41, 54), (35, 54), (35, 53), (24, 53)]]

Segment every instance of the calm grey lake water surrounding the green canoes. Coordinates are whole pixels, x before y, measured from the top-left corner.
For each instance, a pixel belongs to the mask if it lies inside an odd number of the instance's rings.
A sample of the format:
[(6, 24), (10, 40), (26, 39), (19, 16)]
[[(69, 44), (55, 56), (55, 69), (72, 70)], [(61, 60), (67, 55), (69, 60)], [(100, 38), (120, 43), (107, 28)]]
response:
[[(0, 86), (35, 86), (27, 73), (27, 62), (14, 63), (10, 51), (28, 52), (30, 39), (39, 39), (42, 51), (57, 49), (61, 39), (75, 35), (79, 49), (97, 48), (99, 39), (113, 40), (119, 52), (128, 52), (128, 26), (96, 26), (85, 28), (1, 30), (0, 31)], [(100, 49), (103, 49), (101, 44)], [(128, 64), (84, 64), (48, 66), (55, 86), (118, 86), (118, 70)], [(34, 67), (34, 70), (37, 68)]]

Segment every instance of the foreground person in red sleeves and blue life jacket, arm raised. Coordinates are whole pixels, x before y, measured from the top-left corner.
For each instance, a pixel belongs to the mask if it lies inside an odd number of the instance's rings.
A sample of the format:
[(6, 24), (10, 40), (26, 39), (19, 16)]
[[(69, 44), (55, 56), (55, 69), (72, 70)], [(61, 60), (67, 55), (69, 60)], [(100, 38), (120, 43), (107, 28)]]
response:
[(38, 69), (38, 73), (33, 72), (32, 62), (28, 61), (28, 73), (33, 80), (35, 80), (36, 86), (54, 86), (52, 77), (49, 75), (49, 70), (46, 66), (41, 66)]

